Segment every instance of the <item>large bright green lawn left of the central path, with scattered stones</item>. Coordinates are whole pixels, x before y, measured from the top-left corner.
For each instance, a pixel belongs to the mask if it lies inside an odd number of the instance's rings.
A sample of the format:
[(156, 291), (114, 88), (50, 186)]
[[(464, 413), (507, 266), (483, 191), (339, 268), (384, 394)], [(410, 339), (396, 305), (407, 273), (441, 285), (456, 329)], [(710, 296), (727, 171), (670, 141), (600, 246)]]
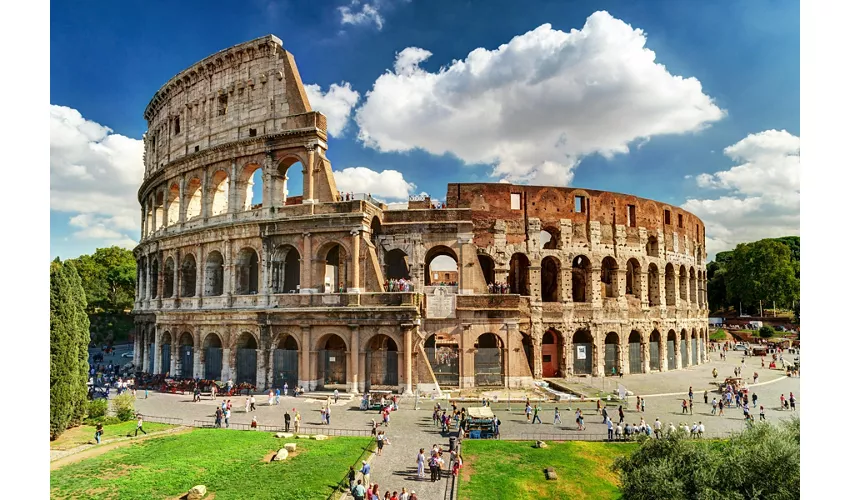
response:
[[(289, 441), (298, 445), (294, 455), (266, 463), (264, 458)], [(204, 484), (216, 500), (324, 500), (370, 442), (359, 437), (284, 440), (266, 432), (194, 429), (52, 471), (50, 497), (173, 499)]]

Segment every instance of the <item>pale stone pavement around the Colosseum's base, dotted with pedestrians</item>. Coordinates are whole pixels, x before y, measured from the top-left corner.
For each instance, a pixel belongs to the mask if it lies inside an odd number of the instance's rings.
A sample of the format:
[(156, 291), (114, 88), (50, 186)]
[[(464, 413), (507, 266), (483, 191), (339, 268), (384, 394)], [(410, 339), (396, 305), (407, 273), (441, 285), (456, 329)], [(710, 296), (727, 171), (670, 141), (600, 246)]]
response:
[[(712, 357), (717, 358), (717, 353), (712, 353)], [(622, 379), (623, 384), (633, 390), (636, 395), (649, 396), (646, 404), (646, 412), (641, 415), (635, 410), (636, 399), (628, 398), (628, 407), (626, 411), (626, 420), (630, 423), (639, 423), (643, 416), (647, 423), (652, 423), (656, 418), (664, 423), (665, 427), (668, 422), (673, 422), (678, 425), (680, 422), (692, 423), (695, 421), (703, 421), (706, 426), (706, 433), (709, 435), (737, 431), (744, 428), (744, 417), (740, 409), (730, 408), (726, 410), (726, 415), (723, 417), (711, 415), (710, 404), (703, 402), (703, 389), (710, 387), (713, 377), (711, 370), (717, 367), (719, 372), (718, 379), (723, 379), (727, 375), (732, 375), (734, 366), (740, 366), (742, 356), (730, 354), (726, 361), (717, 359), (700, 365), (698, 367), (689, 368), (682, 371), (673, 371), (666, 373), (654, 373), (647, 375), (629, 375)], [(788, 378), (784, 376), (784, 372), (779, 370), (761, 369), (761, 363), (758, 358), (745, 358), (744, 375), (747, 378), (752, 377), (753, 371), (759, 373), (759, 384), (751, 387), (751, 392), (758, 395), (760, 405), (764, 405), (767, 420), (776, 421), (780, 418), (790, 417), (791, 411), (779, 409), (779, 396), (784, 394), (787, 398), (790, 392), (793, 392), (797, 397), (797, 412), (800, 413), (804, 395), (800, 394), (800, 379)], [(757, 363), (757, 368), (754, 365)], [(611, 381), (608, 381), (611, 383)], [(616, 382), (616, 381), (614, 381)], [(751, 383), (752, 381), (749, 380)], [(682, 415), (681, 402), (682, 394), (686, 394), (688, 386), (694, 387), (694, 408), (693, 415)], [(665, 395), (674, 393), (673, 395)], [(655, 395), (651, 395), (655, 394)], [(136, 402), (136, 408), (139, 412), (145, 415), (156, 415), (164, 417), (179, 417), (184, 419), (184, 422), (191, 424), (192, 420), (196, 419), (212, 419), (217, 405), (221, 404), (221, 398), (218, 401), (211, 401), (205, 398), (202, 402), (193, 403), (191, 394), (159, 394), (151, 392), (148, 399), (144, 399), (143, 393), (138, 393), (139, 399)], [(709, 392), (709, 402), (711, 401), (712, 393)], [(250, 423), (253, 416), (257, 416), (257, 421), (261, 425), (283, 425), (283, 414), (285, 410), (292, 411), (293, 408), (301, 412), (303, 426), (312, 428), (321, 427), (320, 413), (324, 400), (316, 400), (309, 398), (293, 398), (282, 397), (280, 406), (268, 406), (267, 396), (259, 395), (257, 399), (257, 411), (245, 413), (245, 397), (231, 398), (233, 402), (233, 414), (231, 421), (235, 423)], [(372, 481), (378, 483), (381, 494), (389, 489), (390, 491), (401, 491), (402, 487), (408, 490), (415, 490), (419, 498), (423, 500), (442, 499), (445, 495), (447, 480), (444, 479), (437, 483), (431, 483), (430, 480), (418, 481), (416, 479), (416, 463), (415, 457), (419, 448), (428, 450), (434, 443), (440, 444), (443, 448), (448, 448), (448, 437), (441, 436), (439, 429), (431, 423), (431, 412), (436, 401), (430, 398), (422, 398), (419, 402), (420, 409), (414, 409), (414, 398), (405, 398), (399, 405), (399, 411), (393, 412), (390, 426), (387, 428), (380, 427), (381, 430), (386, 430), (387, 436), (390, 439), (390, 445), (384, 447), (382, 456), (375, 457), (372, 462)], [(340, 400), (339, 404), (331, 406), (331, 425), (327, 426), (332, 429), (360, 429), (368, 431), (370, 429), (371, 420), (379, 420), (380, 416), (377, 411), (362, 411), (358, 409), (359, 401), (355, 398), (352, 401)], [(458, 406), (477, 406), (480, 401), (462, 401), (458, 402)], [(447, 407), (446, 401), (442, 401), (443, 407)], [(608, 411), (616, 417), (618, 403), (607, 403)], [(561, 410), (561, 419), (563, 424), (553, 425), (553, 409), (558, 406)], [(577, 402), (573, 401), (570, 409), (567, 409), (567, 404), (561, 402), (543, 403), (541, 407), (541, 418), (543, 424), (529, 424), (523, 414), (524, 404), (514, 402), (508, 405), (504, 402), (493, 405), (494, 413), (499, 416), (502, 421), (502, 436), (505, 438), (522, 438), (527, 437), (532, 439), (531, 433), (546, 433), (557, 434), (563, 436), (588, 436), (591, 434), (606, 434), (607, 428), (602, 424), (602, 418), (596, 415), (595, 402)], [(575, 424), (574, 412), (576, 408), (582, 408), (585, 413), (585, 426), (587, 430), (578, 431)], [(754, 408), (752, 414), (758, 419), (758, 408)], [(313, 431), (315, 432), (315, 431)], [(525, 435), (525, 436), (524, 436)], [(344, 471), (340, 472), (340, 475)], [(426, 471), (427, 475), (427, 471)]]

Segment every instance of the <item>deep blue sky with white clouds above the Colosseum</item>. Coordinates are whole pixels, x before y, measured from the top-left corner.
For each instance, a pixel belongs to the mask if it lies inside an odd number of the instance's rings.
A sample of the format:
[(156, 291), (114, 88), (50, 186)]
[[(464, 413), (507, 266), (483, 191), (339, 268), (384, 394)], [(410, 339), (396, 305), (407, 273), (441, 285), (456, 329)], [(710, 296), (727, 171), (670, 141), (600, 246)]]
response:
[[(585, 32), (599, 50), (596, 60), (581, 59), (590, 45), (573, 50), (566, 44), (558, 50), (578, 62), (553, 62), (547, 41), (583, 30), (597, 11), (610, 18), (597, 16), (593, 33)], [(357, 93), (355, 103), (342, 105), (345, 128), (331, 137), (328, 156), (335, 171), (366, 167), (375, 182), (386, 180), (387, 171), (399, 173), (393, 180), (401, 187), (384, 193), (388, 201), (423, 191), (442, 198), (449, 182), (507, 179), (628, 192), (684, 206), (706, 222), (711, 253), (741, 241), (799, 234), (797, 2), (54, 1), (50, 16), (52, 256), (74, 257), (108, 244), (132, 247), (139, 235), (132, 186), (141, 183), (134, 163), (138, 143), (132, 140), (145, 132), (146, 104), (192, 63), (269, 33), (295, 56), (305, 85), (325, 93), (347, 82), (346, 89)], [(551, 28), (541, 29), (547, 23)], [(654, 52), (654, 63), (632, 62), (636, 58), (622, 56), (616, 37), (601, 35), (629, 31), (621, 25), (641, 30), (637, 38)], [(522, 61), (505, 57), (485, 72), (499, 82), (446, 75), (443, 85), (423, 87), (425, 76), (441, 67), (458, 69), (454, 61), (469, 63), (475, 49), (495, 53), (515, 37), (524, 40)], [(413, 63), (397, 64), (398, 54), (410, 55)], [(582, 68), (597, 72), (593, 82), (576, 78)], [(651, 74), (658, 81), (607, 88), (606, 68), (623, 69), (622, 79)], [(527, 81), (529, 71), (562, 80), (544, 88)], [(447, 103), (448, 118), (378, 88), (388, 72), (410, 76), (408, 93)], [(700, 88), (676, 77), (695, 79)], [(578, 89), (587, 98), (560, 107), (561, 82), (572, 79), (589, 86)], [(475, 93), (478, 87), (484, 90)], [(437, 130), (451, 130), (474, 113), (487, 92), (516, 98), (511, 107), (518, 111), (503, 109), (505, 121), (483, 124), (469, 143), (453, 138), (455, 131)], [(453, 104), (452, 98), (462, 102)], [(339, 102), (328, 99), (327, 105)], [(394, 121), (382, 109), (411, 111), (414, 118)], [(687, 119), (680, 119), (683, 113)], [(563, 126), (559, 137), (567, 146), (546, 144), (554, 139), (545, 134), (524, 136), (523, 129), (533, 130), (528, 124), (537, 122), (551, 122), (547, 132)], [(396, 129), (407, 132), (393, 135)], [(96, 145), (108, 154), (86, 154), (86, 142), (89, 151)], [(546, 151), (530, 153), (538, 144)], [(349, 170), (338, 183), (368, 185), (353, 179), (362, 173)]]

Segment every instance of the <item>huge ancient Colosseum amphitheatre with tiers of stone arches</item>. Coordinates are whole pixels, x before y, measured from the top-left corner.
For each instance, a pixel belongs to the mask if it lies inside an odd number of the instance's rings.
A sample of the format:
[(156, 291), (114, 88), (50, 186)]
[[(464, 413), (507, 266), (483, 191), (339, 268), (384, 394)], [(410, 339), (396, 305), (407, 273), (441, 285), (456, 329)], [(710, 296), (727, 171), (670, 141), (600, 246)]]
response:
[(274, 36), (182, 71), (144, 117), (145, 372), (409, 393), (707, 359), (704, 225), (678, 207), (511, 184), (449, 184), (440, 206), (341, 194)]

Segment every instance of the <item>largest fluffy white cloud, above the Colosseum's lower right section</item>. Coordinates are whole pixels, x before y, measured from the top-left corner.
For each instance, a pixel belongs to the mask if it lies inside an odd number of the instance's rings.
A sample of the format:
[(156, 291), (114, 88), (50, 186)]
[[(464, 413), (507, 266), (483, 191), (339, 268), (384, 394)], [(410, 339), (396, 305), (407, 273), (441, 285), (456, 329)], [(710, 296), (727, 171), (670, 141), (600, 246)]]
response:
[(646, 36), (607, 12), (569, 33), (544, 24), (436, 72), (408, 47), (381, 75), (355, 120), (380, 151), (421, 148), (517, 183), (566, 185), (582, 157), (627, 153), (663, 134), (725, 116), (696, 78), (670, 74)]

